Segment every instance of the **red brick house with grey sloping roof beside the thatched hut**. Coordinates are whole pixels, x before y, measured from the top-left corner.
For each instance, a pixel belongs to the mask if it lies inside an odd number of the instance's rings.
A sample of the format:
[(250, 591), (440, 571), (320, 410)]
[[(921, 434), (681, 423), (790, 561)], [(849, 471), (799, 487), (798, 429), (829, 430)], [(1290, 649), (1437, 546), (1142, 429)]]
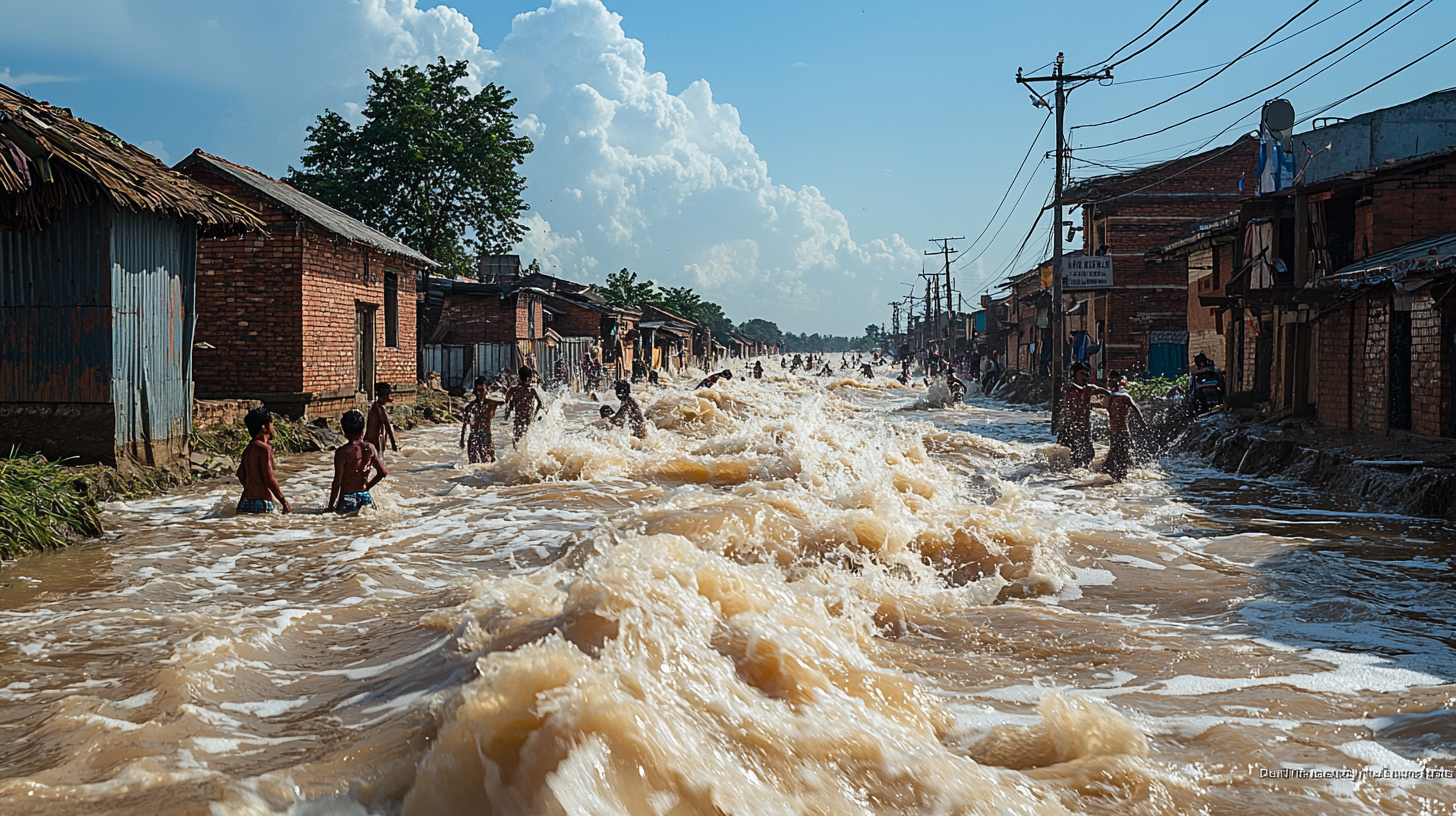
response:
[(414, 401), (415, 281), (438, 264), (250, 168), (194, 150), (175, 169), (268, 224), (198, 242), (198, 398), (339, 415), (389, 382)]

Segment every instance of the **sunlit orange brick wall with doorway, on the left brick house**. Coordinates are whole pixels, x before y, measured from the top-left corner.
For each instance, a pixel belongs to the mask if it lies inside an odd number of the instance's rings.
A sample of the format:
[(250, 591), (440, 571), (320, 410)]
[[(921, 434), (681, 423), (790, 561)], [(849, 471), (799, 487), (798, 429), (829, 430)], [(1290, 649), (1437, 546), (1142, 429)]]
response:
[[(303, 388), (342, 392), (357, 382), (355, 305), (374, 306), (374, 379), (414, 388), (415, 272), (397, 255), (339, 240), (312, 226), (303, 232)], [(386, 345), (384, 274), (399, 281), (397, 342)]]

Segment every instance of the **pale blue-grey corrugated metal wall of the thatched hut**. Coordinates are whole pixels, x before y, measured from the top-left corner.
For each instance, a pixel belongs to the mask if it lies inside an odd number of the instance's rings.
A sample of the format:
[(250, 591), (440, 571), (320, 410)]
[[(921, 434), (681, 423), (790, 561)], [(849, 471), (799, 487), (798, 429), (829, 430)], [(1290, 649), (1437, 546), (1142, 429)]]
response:
[(156, 463), (163, 440), (192, 425), (197, 229), (122, 211), (111, 230), (116, 447)]

